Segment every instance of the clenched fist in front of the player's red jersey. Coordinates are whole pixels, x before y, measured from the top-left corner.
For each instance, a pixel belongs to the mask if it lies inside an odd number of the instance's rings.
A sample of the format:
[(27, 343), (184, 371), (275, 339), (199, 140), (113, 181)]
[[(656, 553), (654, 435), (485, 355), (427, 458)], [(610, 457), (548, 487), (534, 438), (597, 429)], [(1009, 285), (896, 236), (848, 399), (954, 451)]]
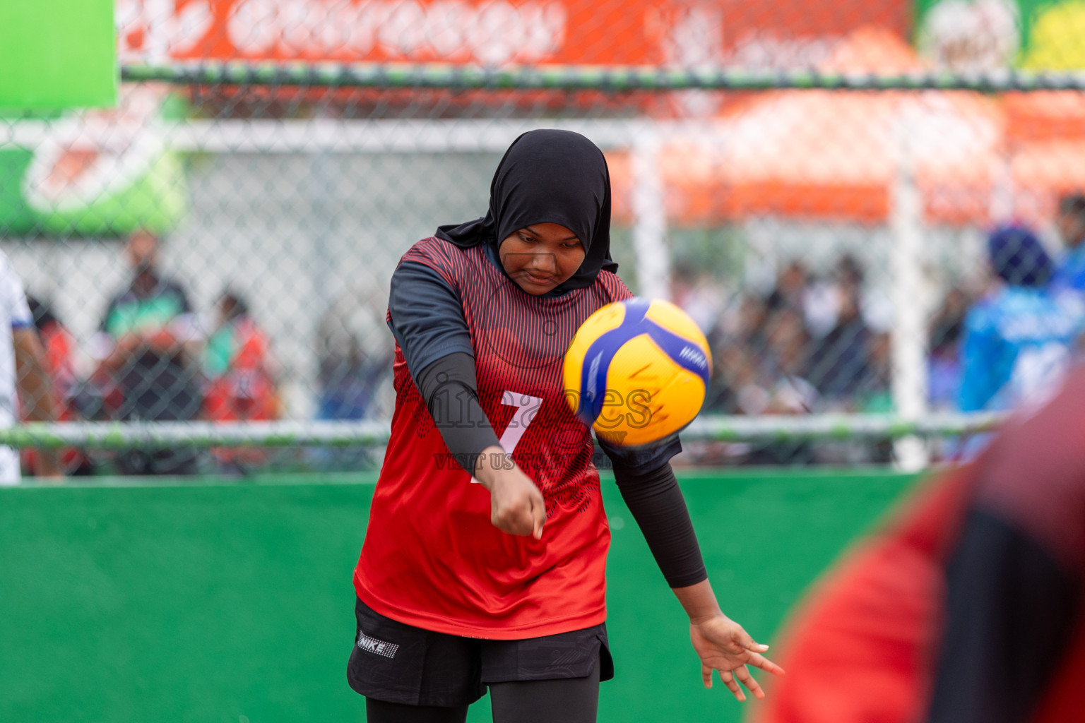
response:
[[(478, 455), (475, 479), (489, 490), (489, 521), (509, 534), (542, 538), (546, 503), (535, 482), (514, 464), (502, 464), (505, 452), (489, 447)], [(511, 461), (509, 461), (511, 462)], [(510, 467), (507, 468), (507, 467)]]

